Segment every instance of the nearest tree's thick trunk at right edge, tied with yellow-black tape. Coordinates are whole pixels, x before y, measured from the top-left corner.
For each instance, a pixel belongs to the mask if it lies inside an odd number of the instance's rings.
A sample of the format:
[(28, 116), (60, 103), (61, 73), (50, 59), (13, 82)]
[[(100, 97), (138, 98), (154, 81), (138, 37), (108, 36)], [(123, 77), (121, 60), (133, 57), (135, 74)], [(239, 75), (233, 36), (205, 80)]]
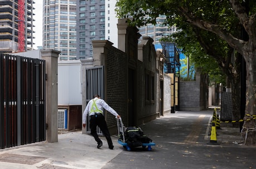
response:
[[(251, 49), (255, 47), (250, 45)], [(246, 105), (245, 116), (242, 134), (245, 138), (245, 145), (256, 145), (256, 128), (253, 117), (256, 115), (256, 53), (248, 49), (244, 52), (244, 58), (247, 69), (247, 90), (246, 90)]]

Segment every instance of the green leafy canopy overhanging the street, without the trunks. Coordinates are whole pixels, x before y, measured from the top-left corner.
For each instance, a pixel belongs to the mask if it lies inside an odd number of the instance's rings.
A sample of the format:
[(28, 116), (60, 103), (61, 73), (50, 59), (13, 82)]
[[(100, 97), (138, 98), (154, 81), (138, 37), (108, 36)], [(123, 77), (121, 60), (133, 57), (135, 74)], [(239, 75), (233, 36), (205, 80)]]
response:
[[(129, 20), (130, 24), (137, 27), (148, 23), (156, 24), (156, 18), (165, 15), (166, 24), (175, 25), (182, 31), (161, 40), (175, 42), (178, 48), (190, 57), (190, 63), (195, 68), (200, 68), (202, 73), (208, 73), (211, 81), (225, 83), (223, 72), (225, 73), (226, 70), (224, 69), (227, 69), (225, 67), (227, 66), (225, 64), (227, 64), (226, 59), (229, 51), (227, 42), (214, 33), (196, 28), (188, 20), (190, 16), (193, 16), (230, 33), (238, 34), (239, 21), (228, 0), (119, 0), (116, 12), (121, 18), (131, 16), (133, 19), (132, 21)], [(181, 69), (181, 73), (183, 71)]]

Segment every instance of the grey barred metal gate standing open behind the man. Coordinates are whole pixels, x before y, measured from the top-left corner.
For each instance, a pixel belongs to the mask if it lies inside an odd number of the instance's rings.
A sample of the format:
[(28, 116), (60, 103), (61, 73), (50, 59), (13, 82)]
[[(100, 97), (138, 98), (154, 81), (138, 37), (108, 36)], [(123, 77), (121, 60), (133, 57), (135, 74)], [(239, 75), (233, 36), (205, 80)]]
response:
[[(99, 94), (104, 99), (104, 66), (96, 66), (86, 69), (86, 104), (93, 98), (95, 94)], [(87, 129), (90, 131), (90, 121), (87, 117)], [(97, 133), (102, 135), (102, 132), (97, 128)]]

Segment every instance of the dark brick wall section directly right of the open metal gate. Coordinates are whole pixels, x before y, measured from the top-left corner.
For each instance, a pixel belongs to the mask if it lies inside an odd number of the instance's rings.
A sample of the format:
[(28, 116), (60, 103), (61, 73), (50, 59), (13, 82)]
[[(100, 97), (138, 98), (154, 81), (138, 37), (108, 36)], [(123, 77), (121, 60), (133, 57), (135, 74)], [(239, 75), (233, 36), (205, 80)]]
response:
[[(115, 47), (105, 49), (105, 100), (126, 121), (127, 57)], [(107, 114), (107, 124), (116, 126), (116, 119)]]

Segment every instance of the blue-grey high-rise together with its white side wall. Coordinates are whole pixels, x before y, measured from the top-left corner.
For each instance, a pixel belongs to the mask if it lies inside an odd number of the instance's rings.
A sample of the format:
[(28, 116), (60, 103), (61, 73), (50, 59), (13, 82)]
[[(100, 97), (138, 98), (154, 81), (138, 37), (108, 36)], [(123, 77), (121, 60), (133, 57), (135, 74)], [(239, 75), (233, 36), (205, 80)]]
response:
[(92, 40), (110, 40), (117, 47), (116, 1), (77, 0), (77, 59), (93, 56)]

